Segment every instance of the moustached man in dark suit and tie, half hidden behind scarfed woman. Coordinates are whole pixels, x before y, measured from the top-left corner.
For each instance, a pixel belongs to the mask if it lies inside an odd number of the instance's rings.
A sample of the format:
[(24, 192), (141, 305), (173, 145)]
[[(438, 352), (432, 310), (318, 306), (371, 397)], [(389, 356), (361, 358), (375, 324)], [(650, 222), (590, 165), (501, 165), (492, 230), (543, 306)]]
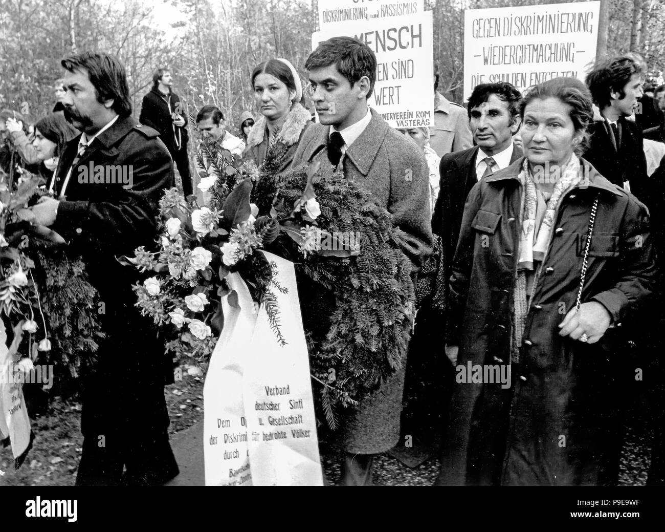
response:
[(522, 156), (513, 144), (520, 126), (522, 95), (510, 83), (483, 83), (469, 97), (468, 114), (476, 146), (445, 154), (441, 159), (439, 197), (434, 206), (432, 231), (442, 238), (442, 260), (446, 279), (455, 254), (464, 204), (471, 188), (481, 178), (509, 166)]

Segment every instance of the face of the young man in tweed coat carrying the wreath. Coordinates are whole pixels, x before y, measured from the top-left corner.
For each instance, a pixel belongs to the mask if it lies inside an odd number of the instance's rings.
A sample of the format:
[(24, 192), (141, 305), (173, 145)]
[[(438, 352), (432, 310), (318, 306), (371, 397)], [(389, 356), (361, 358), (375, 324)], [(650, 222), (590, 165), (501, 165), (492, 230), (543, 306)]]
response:
[(344, 129), (354, 123), (358, 114), (354, 111), (366, 105), (369, 84), (366, 89), (362, 89), (360, 81), (351, 85), (336, 65), (311, 69), (309, 83), (319, 121), (323, 125)]

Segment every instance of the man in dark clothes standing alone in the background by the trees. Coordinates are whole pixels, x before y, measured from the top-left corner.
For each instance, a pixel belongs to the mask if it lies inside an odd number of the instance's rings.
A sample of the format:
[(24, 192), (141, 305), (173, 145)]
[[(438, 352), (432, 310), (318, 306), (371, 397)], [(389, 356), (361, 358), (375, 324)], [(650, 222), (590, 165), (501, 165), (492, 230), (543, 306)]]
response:
[(152, 75), (152, 91), (143, 97), (138, 121), (156, 129), (178, 166), (185, 197), (192, 194), (190, 158), (187, 154), (187, 114), (180, 98), (171, 89), (173, 80), (168, 69), (157, 69)]

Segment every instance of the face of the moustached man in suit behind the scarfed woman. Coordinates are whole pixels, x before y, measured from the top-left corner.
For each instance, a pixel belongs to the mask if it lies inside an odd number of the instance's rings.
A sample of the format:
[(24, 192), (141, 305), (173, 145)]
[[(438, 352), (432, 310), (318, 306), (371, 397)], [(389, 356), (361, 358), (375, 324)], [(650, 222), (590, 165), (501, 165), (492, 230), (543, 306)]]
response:
[(487, 155), (497, 154), (507, 148), (519, 127), (518, 119), (511, 125), (508, 103), (497, 95), (489, 95), (486, 102), (471, 109), (471, 133), (473, 140)]

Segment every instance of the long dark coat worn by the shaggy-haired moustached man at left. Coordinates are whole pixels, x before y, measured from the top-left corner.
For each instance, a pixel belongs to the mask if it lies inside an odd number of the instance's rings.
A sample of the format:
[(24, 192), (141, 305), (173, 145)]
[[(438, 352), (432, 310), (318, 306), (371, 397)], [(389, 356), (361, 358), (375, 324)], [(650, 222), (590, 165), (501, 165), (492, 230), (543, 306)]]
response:
[[(80, 135), (70, 140), (61, 156), (57, 193), (79, 139)], [(85, 182), (91, 164), (131, 170), (131, 188), (122, 182)], [(90, 143), (72, 168), (65, 201), (59, 204), (53, 229), (68, 241), (72, 256), (82, 257), (103, 303), (98, 311), (107, 335), (99, 346), (94, 384), (84, 396), (84, 435), (108, 437), (120, 430), (131, 439), (132, 431), (140, 435), (168, 427), (164, 382), (170, 360), (164, 358), (164, 342), (157, 338), (152, 320), (140, 316), (134, 306), (132, 284), (141, 278), (138, 270), (122, 266), (116, 257), (134, 256), (138, 246), (154, 248), (158, 202), (164, 189), (172, 186), (173, 163), (158, 132), (131, 117), (120, 117)], [(172, 368), (170, 373), (172, 379)]]

